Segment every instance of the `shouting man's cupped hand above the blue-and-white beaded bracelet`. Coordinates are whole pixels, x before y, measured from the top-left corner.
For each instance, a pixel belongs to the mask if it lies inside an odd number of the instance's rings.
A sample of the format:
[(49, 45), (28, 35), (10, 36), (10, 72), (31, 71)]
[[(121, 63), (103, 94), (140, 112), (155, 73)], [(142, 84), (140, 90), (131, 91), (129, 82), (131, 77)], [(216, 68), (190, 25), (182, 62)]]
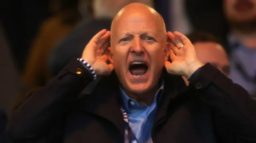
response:
[(89, 63), (94, 69), (95, 73), (99, 76), (109, 75), (113, 70), (113, 65), (108, 65), (106, 63), (109, 55), (102, 55), (105, 53), (110, 53), (108, 49), (109, 45), (110, 31), (103, 29), (92, 37), (82, 54), (82, 59)]

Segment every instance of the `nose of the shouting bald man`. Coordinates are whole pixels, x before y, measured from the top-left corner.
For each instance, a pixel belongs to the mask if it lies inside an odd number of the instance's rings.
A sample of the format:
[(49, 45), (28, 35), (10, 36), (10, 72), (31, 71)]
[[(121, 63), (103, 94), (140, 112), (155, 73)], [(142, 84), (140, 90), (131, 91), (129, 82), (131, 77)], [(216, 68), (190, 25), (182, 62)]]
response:
[(132, 41), (132, 47), (131, 47), (131, 52), (136, 54), (136, 55), (142, 55), (144, 54), (144, 47), (142, 44), (142, 40), (140, 39), (139, 36), (134, 37)]

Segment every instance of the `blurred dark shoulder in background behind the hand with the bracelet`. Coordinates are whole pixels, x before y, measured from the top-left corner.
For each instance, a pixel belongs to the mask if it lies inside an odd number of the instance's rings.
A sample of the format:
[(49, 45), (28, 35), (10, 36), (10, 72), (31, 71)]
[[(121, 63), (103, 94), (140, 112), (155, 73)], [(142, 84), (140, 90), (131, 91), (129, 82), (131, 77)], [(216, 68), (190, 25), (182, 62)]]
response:
[(82, 20), (52, 49), (48, 57), (50, 72), (56, 75), (71, 59), (79, 58), (85, 45), (98, 31), (102, 29), (110, 30), (111, 22), (111, 19)]

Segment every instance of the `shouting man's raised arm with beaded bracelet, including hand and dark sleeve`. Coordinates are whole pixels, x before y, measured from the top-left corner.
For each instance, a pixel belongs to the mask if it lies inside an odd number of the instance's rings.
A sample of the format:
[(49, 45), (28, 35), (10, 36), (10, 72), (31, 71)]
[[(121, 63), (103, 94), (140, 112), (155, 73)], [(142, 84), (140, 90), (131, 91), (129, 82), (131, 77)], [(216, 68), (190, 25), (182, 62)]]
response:
[(96, 75), (110, 74), (113, 66), (106, 63), (108, 55), (102, 56), (108, 48), (109, 37), (110, 31), (106, 29), (97, 33), (86, 45), (82, 59), (72, 60), (51, 82), (14, 111), (7, 127), (12, 141), (36, 143), (44, 138), (54, 125), (64, 120), (77, 96)]

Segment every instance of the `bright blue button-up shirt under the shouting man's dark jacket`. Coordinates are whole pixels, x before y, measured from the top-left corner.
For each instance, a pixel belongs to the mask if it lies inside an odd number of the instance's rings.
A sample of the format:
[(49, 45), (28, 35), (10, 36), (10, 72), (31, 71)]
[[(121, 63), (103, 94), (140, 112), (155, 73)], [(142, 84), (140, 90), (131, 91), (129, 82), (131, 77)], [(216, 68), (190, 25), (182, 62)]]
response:
[[(154, 125), (158, 99), (162, 96), (164, 82), (156, 92), (156, 96), (151, 106), (140, 106), (138, 102), (130, 98), (121, 88), (121, 98), (123, 106), (128, 114), (129, 125), (132, 133), (138, 139), (139, 143), (153, 143), (151, 139), (151, 130)], [(129, 143), (128, 131), (125, 131), (125, 143)]]

